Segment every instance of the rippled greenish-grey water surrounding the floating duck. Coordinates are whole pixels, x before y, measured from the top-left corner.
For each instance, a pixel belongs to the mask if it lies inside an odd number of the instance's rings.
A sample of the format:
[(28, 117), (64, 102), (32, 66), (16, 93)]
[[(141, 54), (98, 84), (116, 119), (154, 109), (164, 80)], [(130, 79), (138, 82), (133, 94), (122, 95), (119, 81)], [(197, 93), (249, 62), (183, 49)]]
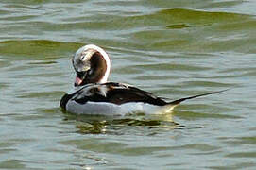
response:
[[(254, 0), (0, 2), (0, 169), (255, 169)], [(178, 99), (171, 114), (59, 108), (94, 43), (111, 81)]]

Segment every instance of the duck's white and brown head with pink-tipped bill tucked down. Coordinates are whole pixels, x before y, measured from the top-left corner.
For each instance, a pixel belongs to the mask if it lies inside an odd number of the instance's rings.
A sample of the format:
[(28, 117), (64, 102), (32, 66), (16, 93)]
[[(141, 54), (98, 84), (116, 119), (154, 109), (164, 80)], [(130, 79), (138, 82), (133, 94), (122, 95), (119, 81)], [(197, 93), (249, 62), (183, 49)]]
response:
[(105, 83), (111, 72), (109, 55), (94, 44), (79, 48), (72, 58), (72, 63), (77, 73), (75, 86)]

